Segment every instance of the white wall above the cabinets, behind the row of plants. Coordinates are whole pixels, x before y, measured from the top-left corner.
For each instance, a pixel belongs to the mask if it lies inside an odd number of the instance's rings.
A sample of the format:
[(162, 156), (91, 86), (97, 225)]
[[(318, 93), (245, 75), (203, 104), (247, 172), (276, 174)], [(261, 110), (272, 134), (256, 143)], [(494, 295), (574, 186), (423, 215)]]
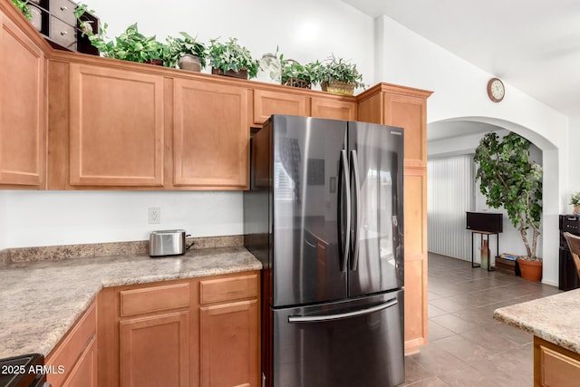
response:
[[(142, 34), (155, 34), (160, 42), (168, 35), (179, 36), (179, 31), (206, 44), (214, 38), (225, 41), (237, 37), (256, 59), (263, 53), (275, 53), (276, 47), (285, 58), (300, 63), (322, 61), (333, 53), (356, 63), (363, 82), (375, 83), (372, 17), (339, 0), (84, 3), (102, 23), (109, 24), (110, 38), (137, 22)], [(204, 73), (210, 71), (208, 68)]]

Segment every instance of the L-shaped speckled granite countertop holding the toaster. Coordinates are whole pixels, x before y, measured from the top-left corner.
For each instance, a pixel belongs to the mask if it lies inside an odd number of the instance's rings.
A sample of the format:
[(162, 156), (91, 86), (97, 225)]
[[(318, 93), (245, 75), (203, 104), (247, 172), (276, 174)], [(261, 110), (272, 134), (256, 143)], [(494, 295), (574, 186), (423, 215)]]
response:
[(160, 258), (122, 255), (10, 263), (0, 268), (0, 358), (46, 356), (102, 287), (261, 269), (244, 247)]

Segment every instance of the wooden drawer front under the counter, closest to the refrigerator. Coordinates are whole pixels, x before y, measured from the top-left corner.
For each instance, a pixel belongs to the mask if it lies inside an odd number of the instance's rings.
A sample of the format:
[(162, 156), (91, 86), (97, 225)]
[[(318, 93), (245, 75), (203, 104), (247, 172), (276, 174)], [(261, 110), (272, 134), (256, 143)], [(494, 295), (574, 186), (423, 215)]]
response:
[(199, 282), (199, 303), (209, 304), (257, 296), (257, 276), (236, 276)]

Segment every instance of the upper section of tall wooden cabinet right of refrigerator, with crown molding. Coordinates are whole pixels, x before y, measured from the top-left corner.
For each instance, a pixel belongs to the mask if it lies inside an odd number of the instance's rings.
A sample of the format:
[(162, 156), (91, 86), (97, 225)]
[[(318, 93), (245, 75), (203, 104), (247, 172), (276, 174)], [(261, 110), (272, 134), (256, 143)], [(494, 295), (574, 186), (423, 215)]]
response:
[(379, 83), (357, 96), (359, 121), (405, 129), (405, 167), (427, 166), (427, 98), (431, 92)]

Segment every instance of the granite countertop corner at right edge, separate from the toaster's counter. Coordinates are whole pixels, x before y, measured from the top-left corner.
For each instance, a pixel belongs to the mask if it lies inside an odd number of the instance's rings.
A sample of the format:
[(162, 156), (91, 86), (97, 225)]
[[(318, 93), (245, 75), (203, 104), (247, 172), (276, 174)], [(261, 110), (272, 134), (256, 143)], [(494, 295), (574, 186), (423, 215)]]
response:
[(496, 309), (494, 318), (580, 353), (580, 289)]

